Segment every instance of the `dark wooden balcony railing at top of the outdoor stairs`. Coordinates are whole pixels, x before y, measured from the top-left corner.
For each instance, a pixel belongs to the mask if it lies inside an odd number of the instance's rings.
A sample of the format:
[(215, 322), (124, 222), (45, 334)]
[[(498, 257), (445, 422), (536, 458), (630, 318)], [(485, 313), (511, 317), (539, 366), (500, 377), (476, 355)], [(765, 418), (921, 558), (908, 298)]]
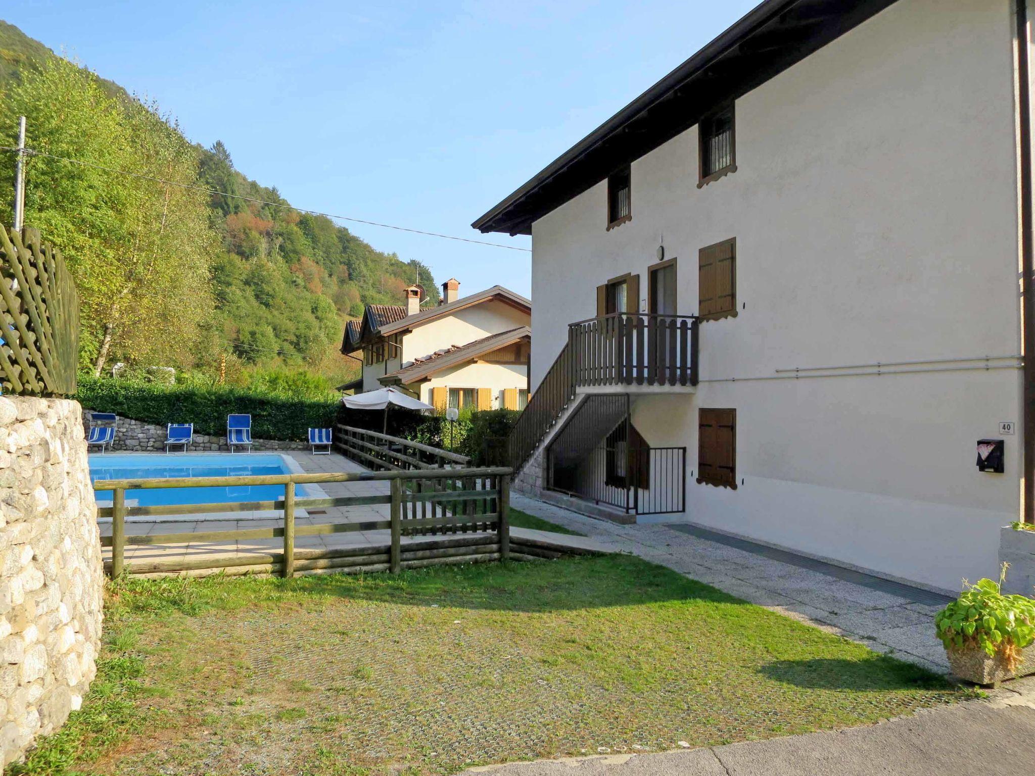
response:
[(698, 319), (618, 312), (568, 327), (575, 387), (698, 384)]

